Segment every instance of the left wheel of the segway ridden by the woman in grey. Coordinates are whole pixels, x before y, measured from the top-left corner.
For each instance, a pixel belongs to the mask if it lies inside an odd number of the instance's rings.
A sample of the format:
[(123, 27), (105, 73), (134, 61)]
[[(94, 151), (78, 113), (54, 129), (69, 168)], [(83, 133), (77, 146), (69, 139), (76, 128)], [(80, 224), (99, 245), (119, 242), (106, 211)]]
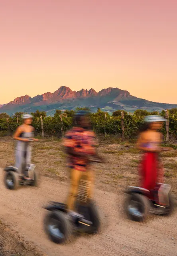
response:
[(5, 185), (8, 189), (16, 190), (20, 186), (18, 173), (15, 171), (7, 171), (4, 178)]

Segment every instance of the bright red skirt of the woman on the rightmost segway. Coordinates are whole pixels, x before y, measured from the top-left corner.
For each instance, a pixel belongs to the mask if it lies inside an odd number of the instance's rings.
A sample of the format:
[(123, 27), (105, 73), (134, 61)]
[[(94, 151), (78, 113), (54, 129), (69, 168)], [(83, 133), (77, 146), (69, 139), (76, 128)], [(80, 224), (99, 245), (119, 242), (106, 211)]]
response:
[(149, 191), (155, 189), (155, 183), (163, 183), (163, 168), (157, 153), (146, 152), (140, 167), (141, 187)]

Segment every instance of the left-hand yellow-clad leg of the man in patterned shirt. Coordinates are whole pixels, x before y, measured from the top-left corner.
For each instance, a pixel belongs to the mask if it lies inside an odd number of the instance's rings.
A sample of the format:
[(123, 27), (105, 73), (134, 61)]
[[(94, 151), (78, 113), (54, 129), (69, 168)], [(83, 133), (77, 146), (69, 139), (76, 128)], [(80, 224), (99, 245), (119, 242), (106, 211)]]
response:
[(67, 198), (67, 207), (69, 211), (74, 211), (75, 199), (77, 196), (79, 180), (81, 178), (81, 175), (82, 175), (82, 171), (71, 169), (71, 176), (70, 176), (71, 181), (70, 181), (69, 195)]

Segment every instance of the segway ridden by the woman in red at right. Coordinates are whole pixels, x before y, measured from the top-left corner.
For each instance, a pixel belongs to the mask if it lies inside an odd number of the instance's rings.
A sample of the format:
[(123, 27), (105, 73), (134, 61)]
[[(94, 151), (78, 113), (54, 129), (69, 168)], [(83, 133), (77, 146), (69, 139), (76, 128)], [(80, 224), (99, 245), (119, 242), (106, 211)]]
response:
[(149, 191), (142, 187), (129, 186), (125, 201), (125, 211), (132, 221), (145, 221), (148, 214), (170, 215), (174, 210), (174, 201), (167, 184), (156, 183), (155, 189)]

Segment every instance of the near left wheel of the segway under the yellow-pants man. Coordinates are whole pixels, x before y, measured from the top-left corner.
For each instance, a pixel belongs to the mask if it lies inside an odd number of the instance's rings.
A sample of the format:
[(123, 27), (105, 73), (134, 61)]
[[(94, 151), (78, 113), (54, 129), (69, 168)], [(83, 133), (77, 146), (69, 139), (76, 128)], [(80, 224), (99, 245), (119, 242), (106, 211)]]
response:
[(64, 213), (55, 211), (45, 216), (44, 230), (51, 241), (62, 244), (69, 240), (72, 226)]

